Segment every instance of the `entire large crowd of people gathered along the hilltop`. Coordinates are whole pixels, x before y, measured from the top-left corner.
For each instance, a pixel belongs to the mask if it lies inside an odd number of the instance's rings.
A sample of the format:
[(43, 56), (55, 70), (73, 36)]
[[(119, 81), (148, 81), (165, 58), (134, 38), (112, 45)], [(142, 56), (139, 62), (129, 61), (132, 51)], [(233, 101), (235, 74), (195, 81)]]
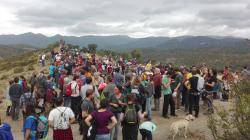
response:
[[(162, 109), (162, 117), (169, 119), (182, 109), (198, 118), (201, 99), (205, 114), (213, 113), (213, 100), (227, 101), (230, 85), (243, 73), (249, 75), (247, 67), (232, 72), (205, 64), (139, 64), (69, 49), (64, 43), (47, 61), (47, 75), (34, 72), (28, 80), (20, 76), (9, 82), (6, 115), (16, 121), (21, 110), (25, 140), (47, 139), (49, 128), (54, 140), (73, 140), (72, 124), (79, 125), (83, 140), (117, 140), (120, 135), (137, 140), (138, 133), (152, 140), (153, 111)], [(40, 62), (45, 67), (44, 55)]]

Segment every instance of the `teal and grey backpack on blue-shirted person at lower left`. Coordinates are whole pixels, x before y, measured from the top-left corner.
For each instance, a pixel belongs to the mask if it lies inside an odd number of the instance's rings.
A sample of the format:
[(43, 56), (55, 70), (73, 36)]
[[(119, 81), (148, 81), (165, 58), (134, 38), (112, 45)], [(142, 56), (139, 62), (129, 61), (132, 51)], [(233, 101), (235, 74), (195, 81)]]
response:
[(37, 131), (36, 136), (38, 139), (46, 138), (49, 130), (49, 122), (45, 116), (37, 117)]

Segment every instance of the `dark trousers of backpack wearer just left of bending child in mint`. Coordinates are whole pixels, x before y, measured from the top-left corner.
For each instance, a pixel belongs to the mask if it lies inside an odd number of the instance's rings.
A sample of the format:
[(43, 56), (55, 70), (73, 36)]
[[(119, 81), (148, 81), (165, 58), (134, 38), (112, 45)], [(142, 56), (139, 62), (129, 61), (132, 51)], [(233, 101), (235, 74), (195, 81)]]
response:
[(123, 126), (122, 139), (123, 140), (137, 140), (138, 138), (138, 126)]

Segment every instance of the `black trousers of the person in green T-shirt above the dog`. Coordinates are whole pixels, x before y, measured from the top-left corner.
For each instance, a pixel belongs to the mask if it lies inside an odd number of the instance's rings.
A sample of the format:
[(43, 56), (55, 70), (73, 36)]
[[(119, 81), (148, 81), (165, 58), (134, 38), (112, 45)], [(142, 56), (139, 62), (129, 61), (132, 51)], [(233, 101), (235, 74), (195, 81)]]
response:
[(162, 116), (166, 116), (168, 114), (169, 105), (170, 105), (170, 114), (175, 115), (175, 104), (174, 104), (172, 94), (164, 95)]

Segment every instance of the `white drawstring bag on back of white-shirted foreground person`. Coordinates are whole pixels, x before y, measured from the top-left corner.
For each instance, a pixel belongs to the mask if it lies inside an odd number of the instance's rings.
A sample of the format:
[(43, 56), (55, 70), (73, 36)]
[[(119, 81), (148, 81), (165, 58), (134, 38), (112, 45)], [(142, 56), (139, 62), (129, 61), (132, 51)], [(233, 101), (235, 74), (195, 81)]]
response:
[(58, 123), (55, 125), (56, 129), (61, 129), (61, 130), (66, 130), (69, 127), (69, 124), (67, 123), (67, 118), (65, 116), (65, 111), (67, 110), (67, 107), (64, 109), (64, 111), (60, 111), (58, 108), (56, 108), (59, 112), (59, 118), (58, 118)]

